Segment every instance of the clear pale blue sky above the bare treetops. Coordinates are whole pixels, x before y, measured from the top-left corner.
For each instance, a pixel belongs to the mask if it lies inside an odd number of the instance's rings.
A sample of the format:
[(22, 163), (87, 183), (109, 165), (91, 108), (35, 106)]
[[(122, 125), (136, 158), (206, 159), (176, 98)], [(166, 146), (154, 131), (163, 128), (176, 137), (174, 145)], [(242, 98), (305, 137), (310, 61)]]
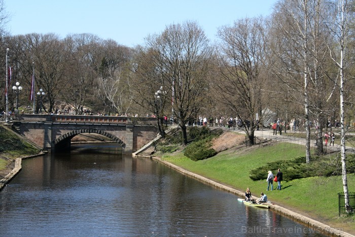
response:
[(11, 35), (92, 33), (129, 47), (173, 23), (196, 21), (213, 42), (220, 26), (267, 16), (276, 0), (4, 0)]

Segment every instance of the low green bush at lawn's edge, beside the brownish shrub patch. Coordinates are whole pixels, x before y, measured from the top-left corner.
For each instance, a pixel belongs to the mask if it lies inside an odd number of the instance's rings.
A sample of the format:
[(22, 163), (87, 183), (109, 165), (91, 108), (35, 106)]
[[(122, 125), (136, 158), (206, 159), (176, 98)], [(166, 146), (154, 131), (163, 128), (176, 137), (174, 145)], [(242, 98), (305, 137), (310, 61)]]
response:
[(184, 150), (184, 155), (193, 161), (207, 159), (217, 154), (217, 152), (210, 148), (211, 138), (205, 138), (188, 145)]

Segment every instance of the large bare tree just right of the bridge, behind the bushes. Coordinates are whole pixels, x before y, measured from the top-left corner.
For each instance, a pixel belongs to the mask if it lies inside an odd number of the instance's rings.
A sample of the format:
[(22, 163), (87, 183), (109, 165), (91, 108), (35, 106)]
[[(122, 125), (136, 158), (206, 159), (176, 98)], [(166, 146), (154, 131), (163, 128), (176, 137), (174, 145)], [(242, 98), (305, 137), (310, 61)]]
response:
[[(147, 38), (163, 74), (165, 91), (171, 91), (172, 119), (179, 124), (187, 144), (186, 124), (200, 110), (206, 92), (207, 66), (211, 54), (209, 41), (196, 22), (171, 24), (159, 36)], [(159, 88), (158, 88), (159, 89)]]

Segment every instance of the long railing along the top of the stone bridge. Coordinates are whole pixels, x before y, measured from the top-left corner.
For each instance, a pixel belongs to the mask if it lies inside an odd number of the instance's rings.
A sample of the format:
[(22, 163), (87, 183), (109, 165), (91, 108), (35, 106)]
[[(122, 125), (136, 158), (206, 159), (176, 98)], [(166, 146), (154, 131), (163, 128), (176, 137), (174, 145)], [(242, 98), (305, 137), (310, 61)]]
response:
[(18, 121), (29, 122), (63, 122), (63, 123), (108, 123), (108, 124), (156, 124), (156, 118), (151, 117), (118, 117), (96, 115), (42, 115), (22, 114)]

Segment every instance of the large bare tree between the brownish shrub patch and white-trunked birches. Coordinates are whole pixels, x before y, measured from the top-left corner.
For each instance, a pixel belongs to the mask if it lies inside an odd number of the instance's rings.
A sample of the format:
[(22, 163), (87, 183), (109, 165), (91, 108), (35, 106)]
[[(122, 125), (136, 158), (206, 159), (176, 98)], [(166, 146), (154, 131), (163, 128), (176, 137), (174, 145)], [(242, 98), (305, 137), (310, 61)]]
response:
[[(259, 124), (256, 114), (261, 108), (263, 63), (266, 55), (265, 22), (262, 18), (245, 18), (218, 31), (221, 81), (216, 82), (223, 103), (236, 113), (243, 124), (250, 145)], [(262, 120), (262, 115), (260, 120)]]

